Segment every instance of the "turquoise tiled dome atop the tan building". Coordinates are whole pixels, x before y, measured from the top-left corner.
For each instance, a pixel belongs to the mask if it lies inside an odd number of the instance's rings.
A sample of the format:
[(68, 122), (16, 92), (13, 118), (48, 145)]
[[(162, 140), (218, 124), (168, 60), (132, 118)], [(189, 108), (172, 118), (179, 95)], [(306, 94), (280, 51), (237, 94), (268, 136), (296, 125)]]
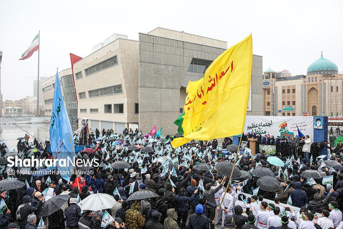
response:
[(328, 60), (324, 57), (320, 57), (318, 60), (310, 64), (307, 68), (307, 75), (314, 75), (314, 74), (323, 74), (323, 75), (331, 75), (337, 74), (338, 67), (337, 65)]

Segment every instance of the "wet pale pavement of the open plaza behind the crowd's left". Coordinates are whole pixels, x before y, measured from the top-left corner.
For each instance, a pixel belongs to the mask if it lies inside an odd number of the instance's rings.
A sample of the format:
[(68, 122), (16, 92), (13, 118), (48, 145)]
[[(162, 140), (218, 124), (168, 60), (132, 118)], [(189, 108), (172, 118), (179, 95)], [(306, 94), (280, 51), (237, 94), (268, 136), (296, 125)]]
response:
[(10, 151), (17, 149), (18, 140), (16, 139), (24, 137), (25, 134), (30, 136), (30, 142), (37, 138), (39, 142), (44, 143), (46, 137), (49, 137), (49, 123), (0, 125), (0, 139), (4, 139)]

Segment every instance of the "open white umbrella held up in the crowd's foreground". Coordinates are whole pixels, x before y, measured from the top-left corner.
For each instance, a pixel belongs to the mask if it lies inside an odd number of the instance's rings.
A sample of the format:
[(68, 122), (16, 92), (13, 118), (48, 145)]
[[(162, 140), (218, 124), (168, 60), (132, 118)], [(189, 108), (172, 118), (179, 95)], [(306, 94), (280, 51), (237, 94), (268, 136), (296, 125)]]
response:
[(91, 194), (84, 198), (78, 205), (80, 206), (81, 210), (91, 210), (91, 211), (99, 211), (107, 208), (112, 208), (117, 201), (105, 193), (96, 193)]

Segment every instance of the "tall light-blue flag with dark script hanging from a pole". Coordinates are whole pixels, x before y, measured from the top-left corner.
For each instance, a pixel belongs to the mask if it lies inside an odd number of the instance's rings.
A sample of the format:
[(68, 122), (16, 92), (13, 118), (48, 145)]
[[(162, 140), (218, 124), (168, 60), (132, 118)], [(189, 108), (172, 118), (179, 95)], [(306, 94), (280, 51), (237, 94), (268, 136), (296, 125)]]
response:
[[(66, 106), (64, 105), (63, 96), (61, 93), (61, 85), (56, 72), (54, 101), (52, 103), (51, 121), (50, 121), (50, 143), (52, 156), (55, 159), (65, 160), (64, 166), (59, 166), (56, 163), (56, 168), (61, 177), (70, 181), (73, 170), (73, 151), (74, 141), (73, 133), (69, 122)], [(68, 158), (71, 160), (68, 161)]]

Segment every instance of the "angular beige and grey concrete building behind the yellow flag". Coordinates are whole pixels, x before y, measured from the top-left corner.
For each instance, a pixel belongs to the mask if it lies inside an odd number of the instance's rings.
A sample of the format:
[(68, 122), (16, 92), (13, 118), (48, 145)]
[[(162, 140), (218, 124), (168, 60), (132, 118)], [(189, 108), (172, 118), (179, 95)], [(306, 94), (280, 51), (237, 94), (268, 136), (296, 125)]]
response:
[[(165, 28), (139, 33), (139, 41), (114, 34), (73, 65), (77, 118), (88, 118), (92, 131), (139, 127), (147, 133), (156, 125), (164, 135), (175, 134), (188, 81), (202, 78), (226, 49), (225, 41)], [(63, 79), (62, 72), (59, 76)], [(51, 115), (52, 78), (42, 83), (46, 115)], [(248, 115), (262, 115), (262, 79), (262, 56), (253, 55)], [(61, 85), (67, 103), (63, 80)]]

